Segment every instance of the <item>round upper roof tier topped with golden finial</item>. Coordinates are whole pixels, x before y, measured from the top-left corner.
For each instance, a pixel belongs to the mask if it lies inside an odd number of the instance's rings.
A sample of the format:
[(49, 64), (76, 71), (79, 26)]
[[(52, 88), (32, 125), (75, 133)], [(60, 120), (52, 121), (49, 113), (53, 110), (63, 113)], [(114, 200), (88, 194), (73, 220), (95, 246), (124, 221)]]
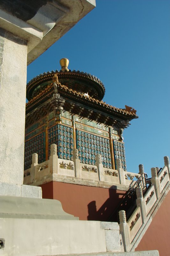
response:
[(38, 95), (45, 87), (52, 82), (52, 78), (57, 73), (61, 84), (80, 93), (87, 93), (96, 100), (102, 100), (105, 95), (105, 87), (99, 78), (80, 72), (79, 70), (69, 70), (69, 61), (66, 58), (60, 60), (62, 69), (60, 71), (45, 72), (34, 77), (26, 86), (26, 98), (31, 100)]

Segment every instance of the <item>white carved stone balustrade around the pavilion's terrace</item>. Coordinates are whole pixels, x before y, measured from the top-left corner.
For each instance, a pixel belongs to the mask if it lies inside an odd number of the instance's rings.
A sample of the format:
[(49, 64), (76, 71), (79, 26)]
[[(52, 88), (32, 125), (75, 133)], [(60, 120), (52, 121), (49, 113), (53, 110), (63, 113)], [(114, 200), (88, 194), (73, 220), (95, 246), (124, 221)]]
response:
[(129, 187), (134, 182), (134, 178), (140, 177), (138, 173), (125, 172), (120, 159), (116, 162), (117, 170), (103, 167), (101, 156), (96, 157), (96, 165), (80, 163), (78, 150), (73, 149), (73, 161), (61, 159), (57, 156), (57, 146), (51, 145), (49, 160), (38, 164), (38, 155), (32, 155), (31, 168), (24, 171), (24, 184), (40, 185), (45, 180), (48, 182), (54, 178), (67, 177), (67, 179), (87, 179), (92, 182), (107, 182), (107, 184), (121, 184)]

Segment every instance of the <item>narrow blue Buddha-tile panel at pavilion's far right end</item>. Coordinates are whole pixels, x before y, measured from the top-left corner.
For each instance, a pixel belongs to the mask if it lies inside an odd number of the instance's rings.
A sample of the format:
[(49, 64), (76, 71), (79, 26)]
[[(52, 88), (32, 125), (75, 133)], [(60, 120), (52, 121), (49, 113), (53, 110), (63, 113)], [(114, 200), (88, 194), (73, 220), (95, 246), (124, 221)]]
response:
[(116, 168), (116, 159), (121, 159), (122, 168), (124, 169), (124, 171), (127, 171), (124, 143), (113, 140), (113, 148), (114, 148), (114, 157), (115, 157), (115, 168)]

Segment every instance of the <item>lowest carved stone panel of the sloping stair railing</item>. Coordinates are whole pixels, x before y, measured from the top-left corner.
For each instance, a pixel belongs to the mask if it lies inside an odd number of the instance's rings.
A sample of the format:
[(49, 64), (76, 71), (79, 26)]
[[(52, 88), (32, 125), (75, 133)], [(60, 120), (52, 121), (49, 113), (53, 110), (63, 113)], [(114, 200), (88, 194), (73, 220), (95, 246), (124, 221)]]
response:
[(142, 226), (142, 217), (141, 217), (140, 207), (136, 208), (136, 210), (133, 212), (130, 219), (127, 221), (127, 224), (129, 227), (130, 240), (132, 241), (133, 238), (136, 236), (139, 228)]

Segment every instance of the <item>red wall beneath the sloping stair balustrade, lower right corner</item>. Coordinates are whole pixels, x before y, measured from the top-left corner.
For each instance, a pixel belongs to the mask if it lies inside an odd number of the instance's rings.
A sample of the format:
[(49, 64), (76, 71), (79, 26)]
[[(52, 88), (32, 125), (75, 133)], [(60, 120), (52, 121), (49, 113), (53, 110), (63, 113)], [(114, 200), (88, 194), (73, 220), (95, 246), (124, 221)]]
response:
[(135, 251), (158, 250), (159, 256), (170, 255), (170, 191)]

